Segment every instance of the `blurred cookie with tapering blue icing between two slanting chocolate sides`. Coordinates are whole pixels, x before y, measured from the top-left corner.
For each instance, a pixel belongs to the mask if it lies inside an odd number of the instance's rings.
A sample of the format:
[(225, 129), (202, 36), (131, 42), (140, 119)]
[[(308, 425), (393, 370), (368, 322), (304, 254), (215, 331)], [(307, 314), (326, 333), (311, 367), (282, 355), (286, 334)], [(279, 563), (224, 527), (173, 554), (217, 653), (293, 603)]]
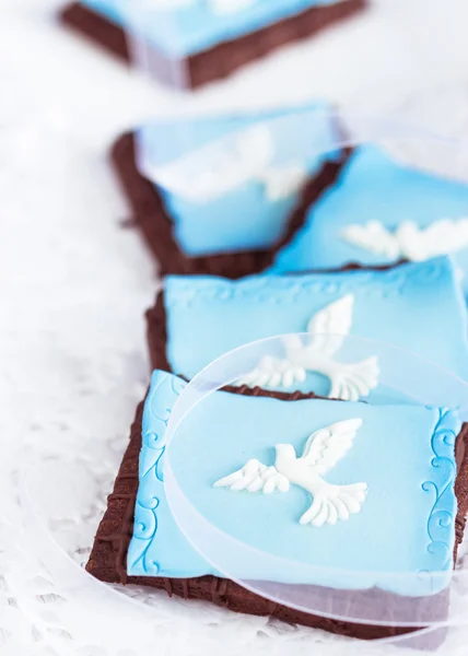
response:
[(347, 160), (330, 110), (159, 121), (120, 138), (115, 168), (162, 272), (238, 278), (271, 266)]

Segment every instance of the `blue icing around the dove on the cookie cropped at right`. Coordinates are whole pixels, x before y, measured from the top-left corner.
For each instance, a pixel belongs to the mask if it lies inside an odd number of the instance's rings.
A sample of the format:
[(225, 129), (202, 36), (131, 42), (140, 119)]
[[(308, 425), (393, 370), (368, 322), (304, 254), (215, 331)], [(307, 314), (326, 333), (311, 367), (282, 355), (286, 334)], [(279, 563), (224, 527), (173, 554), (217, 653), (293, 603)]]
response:
[[(409, 168), (377, 147), (363, 145), (351, 156), (338, 184), (311, 209), (305, 225), (279, 253), (272, 270), (326, 269), (356, 261), (391, 263), (395, 258), (346, 241), (343, 229), (371, 221), (390, 231), (403, 221), (425, 229), (438, 220), (466, 218), (468, 185)], [(468, 249), (454, 259), (468, 273)]]

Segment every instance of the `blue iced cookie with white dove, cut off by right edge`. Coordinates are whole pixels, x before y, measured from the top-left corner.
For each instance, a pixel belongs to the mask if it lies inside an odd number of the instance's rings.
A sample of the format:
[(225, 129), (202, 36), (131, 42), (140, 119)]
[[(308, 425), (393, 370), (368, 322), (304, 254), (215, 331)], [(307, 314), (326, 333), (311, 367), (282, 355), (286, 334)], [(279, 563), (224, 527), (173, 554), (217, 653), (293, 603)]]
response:
[[(468, 184), (436, 177), (358, 148), (312, 206), (273, 271), (423, 261), (451, 255), (468, 272)], [(468, 283), (468, 281), (467, 281)]]

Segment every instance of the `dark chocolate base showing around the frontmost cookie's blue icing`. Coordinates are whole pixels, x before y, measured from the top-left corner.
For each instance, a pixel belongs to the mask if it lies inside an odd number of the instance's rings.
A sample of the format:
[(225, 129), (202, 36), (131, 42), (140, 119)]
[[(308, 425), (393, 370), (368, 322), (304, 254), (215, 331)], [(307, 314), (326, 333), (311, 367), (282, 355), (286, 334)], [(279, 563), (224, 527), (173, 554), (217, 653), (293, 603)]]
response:
[[(289, 401), (313, 396), (302, 395), (301, 393), (295, 393), (294, 395), (268, 393), (259, 388), (254, 390), (241, 388), (238, 393), (254, 396), (272, 396)], [(376, 640), (417, 631), (414, 628), (366, 625), (317, 617), (269, 601), (246, 590), (232, 581), (211, 575), (195, 578), (129, 576), (127, 574), (127, 551), (133, 530), (133, 509), (139, 484), (138, 464), (141, 449), (142, 415), (143, 403), (140, 403), (134, 423), (131, 427), (130, 443), (124, 456), (114, 491), (108, 496), (107, 511), (97, 529), (95, 542), (86, 565), (86, 570), (90, 574), (107, 583), (136, 584), (160, 588), (164, 589), (169, 596), (176, 595), (185, 599), (202, 599), (236, 612), (255, 616), (271, 616), (288, 623), (303, 624), (305, 626), (321, 629), (340, 635), (362, 640)], [(457, 438), (458, 476), (455, 492), (458, 500), (458, 514), (456, 518), (455, 552), (458, 544), (461, 542), (466, 524), (465, 516), (468, 513), (467, 440), (468, 429), (465, 425)], [(321, 589), (326, 591), (326, 588)], [(343, 606), (348, 604), (350, 605), (349, 607), (352, 608), (356, 595), (360, 594), (362, 593), (350, 590), (340, 591), (340, 609), (342, 610)], [(366, 599), (372, 598), (372, 595), (374, 594), (378, 596), (381, 600), (382, 597), (385, 596), (386, 608), (389, 610), (395, 609), (396, 617), (401, 617), (402, 605), (408, 602), (411, 605), (414, 604), (414, 599), (408, 599), (377, 589), (365, 590), (364, 594)], [(434, 614), (437, 613), (437, 619), (442, 620), (448, 609), (448, 590), (443, 590), (432, 597), (419, 598), (420, 617), (425, 617), (429, 621), (429, 618), (434, 619)], [(379, 601), (379, 604), (382, 604), (382, 601)], [(331, 597), (329, 611), (330, 614), (334, 613)], [(430, 647), (437, 646), (443, 639), (444, 631), (441, 631), (436, 639), (433, 636), (433, 642), (429, 642), (428, 644)], [(424, 645), (424, 637), (422, 637), (422, 644), (418, 643), (418, 646), (428, 646)], [(434, 642), (437, 642), (437, 645), (435, 645)]]

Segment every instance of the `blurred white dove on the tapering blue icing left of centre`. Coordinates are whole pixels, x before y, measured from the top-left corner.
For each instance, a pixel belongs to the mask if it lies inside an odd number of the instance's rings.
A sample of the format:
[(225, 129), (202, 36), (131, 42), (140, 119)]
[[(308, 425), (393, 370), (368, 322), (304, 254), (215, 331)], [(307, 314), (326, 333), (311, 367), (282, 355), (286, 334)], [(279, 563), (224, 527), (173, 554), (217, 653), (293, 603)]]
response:
[(274, 139), (266, 126), (254, 126), (220, 143), (206, 145), (165, 166), (143, 161), (147, 177), (192, 202), (210, 202), (248, 181), (264, 185), (274, 202), (297, 192), (308, 174), (304, 166), (272, 164)]

